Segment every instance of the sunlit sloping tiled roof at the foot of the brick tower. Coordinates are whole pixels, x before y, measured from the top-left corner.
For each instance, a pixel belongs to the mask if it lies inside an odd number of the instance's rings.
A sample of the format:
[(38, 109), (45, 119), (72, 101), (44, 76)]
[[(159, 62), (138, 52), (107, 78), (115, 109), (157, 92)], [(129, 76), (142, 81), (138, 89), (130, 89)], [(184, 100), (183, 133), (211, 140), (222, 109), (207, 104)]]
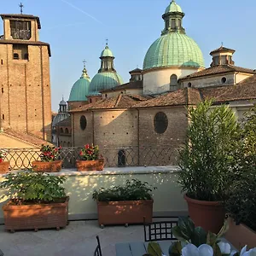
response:
[(13, 131), (12, 129), (6, 129), (3, 131), (3, 133), (9, 135), (10, 137), (15, 137), (25, 143), (30, 143), (37, 147), (41, 147), (42, 144), (52, 145), (51, 143), (44, 141), (41, 138), (38, 138), (36, 136), (33, 136), (25, 132), (21, 132), (21, 131)]

